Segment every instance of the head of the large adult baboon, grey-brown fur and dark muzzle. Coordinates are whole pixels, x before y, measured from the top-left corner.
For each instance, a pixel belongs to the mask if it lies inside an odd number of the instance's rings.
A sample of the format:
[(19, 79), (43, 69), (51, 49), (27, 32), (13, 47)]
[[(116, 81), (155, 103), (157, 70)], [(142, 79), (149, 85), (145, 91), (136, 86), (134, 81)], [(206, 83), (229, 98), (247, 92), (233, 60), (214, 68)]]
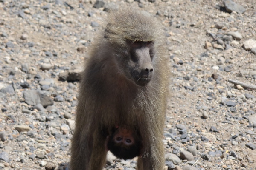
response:
[[(142, 16), (142, 18), (136, 18)], [(147, 85), (154, 75), (155, 43), (157, 31), (151, 15), (110, 15), (105, 28), (105, 41), (115, 57), (119, 70), (136, 85)], [(124, 20), (124, 17), (125, 20)], [(154, 20), (154, 19), (153, 19)], [(154, 24), (154, 26), (152, 26)]]

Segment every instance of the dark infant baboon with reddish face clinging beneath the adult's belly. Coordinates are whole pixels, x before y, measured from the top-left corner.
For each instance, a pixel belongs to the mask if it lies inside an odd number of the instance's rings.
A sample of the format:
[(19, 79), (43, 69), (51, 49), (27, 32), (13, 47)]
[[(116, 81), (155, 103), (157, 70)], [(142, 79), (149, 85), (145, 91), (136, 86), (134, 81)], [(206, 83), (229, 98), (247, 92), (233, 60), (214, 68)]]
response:
[(116, 127), (112, 135), (107, 137), (106, 150), (120, 159), (132, 159), (140, 155), (141, 140), (137, 132), (125, 127)]

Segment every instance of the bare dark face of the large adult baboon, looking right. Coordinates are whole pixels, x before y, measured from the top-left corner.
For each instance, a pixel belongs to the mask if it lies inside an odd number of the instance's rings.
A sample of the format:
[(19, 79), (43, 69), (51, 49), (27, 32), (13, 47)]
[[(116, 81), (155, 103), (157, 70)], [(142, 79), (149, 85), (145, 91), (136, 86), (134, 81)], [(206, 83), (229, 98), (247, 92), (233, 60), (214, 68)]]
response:
[(127, 40), (126, 58), (121, 58), (122, 71), (129, 79), (139, 86), (147, 85), (153, 77), (154, 58), (153, 41), (129, 41)]

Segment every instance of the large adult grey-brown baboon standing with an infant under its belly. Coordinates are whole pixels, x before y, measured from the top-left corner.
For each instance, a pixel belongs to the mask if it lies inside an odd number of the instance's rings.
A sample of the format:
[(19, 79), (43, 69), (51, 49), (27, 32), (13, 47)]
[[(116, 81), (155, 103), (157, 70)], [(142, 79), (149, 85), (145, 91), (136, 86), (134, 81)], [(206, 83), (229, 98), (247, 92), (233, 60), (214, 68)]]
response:
[(71, 170), (101, 170), (116, 126), (139, 140), (129, 156), (138, 156), (137, 170), (163, 170), (168, 62), (157, 18), (132, 9), (110, 11), (81, 75)]

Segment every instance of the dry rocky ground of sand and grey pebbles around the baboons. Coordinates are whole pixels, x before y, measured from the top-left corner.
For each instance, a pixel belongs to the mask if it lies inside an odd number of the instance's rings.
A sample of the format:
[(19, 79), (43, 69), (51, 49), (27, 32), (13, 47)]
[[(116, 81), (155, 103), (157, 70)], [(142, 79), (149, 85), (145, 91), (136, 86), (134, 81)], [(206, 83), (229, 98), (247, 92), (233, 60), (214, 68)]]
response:
[(82, 63), (107, 11), (132, 6), (166, 28), (166, 169), (256, 170), (256, 1), (234, 2), (0, 0), (0, 169), (68, 169)]

